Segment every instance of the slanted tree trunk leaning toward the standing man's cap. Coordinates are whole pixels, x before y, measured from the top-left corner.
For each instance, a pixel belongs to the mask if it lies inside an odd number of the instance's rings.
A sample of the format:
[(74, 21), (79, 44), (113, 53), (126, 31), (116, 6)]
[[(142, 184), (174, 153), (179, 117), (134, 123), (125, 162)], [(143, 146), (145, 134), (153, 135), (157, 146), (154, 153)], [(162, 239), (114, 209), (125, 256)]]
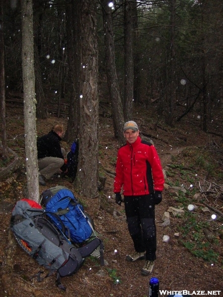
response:
[(117, 138), (121, 144), (123, 144), (124, 136), (122, 129), (124, 124), (124, 116), (115, 67), (114, 35), (111, 8), (108, 6), (107, 0), (102, 0), (101, 4), (105, 33), (106, 74), (111, 99), (114, 137)]

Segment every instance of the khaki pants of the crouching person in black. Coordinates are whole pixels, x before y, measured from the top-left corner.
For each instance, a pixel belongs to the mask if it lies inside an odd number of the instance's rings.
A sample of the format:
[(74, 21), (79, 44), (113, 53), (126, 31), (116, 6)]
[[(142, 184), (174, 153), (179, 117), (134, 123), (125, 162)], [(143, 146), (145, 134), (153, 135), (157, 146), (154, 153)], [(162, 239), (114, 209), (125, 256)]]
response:
[(56, 157), (45, 157), (38, 159), (39, 173), (46, 179), (50, 179), (55, 173), (60, 172), (64, 160)]

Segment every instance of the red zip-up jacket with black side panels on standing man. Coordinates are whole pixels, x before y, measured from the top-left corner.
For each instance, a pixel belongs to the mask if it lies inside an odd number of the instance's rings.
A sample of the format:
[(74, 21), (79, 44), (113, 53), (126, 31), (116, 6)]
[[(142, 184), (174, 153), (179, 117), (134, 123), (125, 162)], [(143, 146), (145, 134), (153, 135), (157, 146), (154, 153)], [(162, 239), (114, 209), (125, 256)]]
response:
[(156, 148), (138, 136), (133, 144), (119, 148), (114, 179), (114, 193), (140, 196), (163, 191), (164, 174)]

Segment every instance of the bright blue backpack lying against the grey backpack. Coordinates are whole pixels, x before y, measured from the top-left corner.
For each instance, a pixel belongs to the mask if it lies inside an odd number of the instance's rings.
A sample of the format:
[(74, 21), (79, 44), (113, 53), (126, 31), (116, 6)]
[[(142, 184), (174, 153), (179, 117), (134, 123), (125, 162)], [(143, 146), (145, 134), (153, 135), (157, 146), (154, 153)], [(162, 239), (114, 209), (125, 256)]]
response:
[(84, 211), (79, 199), (75, 198), (69, 189), (56, 186), (44, 191), (40, 204), (51, 221), (72, 244), (81, 247), (97, 239), (100, 244), (91, 255), (100, 257), (103, 265), (103, 242), (97, 236), (91, 216)]

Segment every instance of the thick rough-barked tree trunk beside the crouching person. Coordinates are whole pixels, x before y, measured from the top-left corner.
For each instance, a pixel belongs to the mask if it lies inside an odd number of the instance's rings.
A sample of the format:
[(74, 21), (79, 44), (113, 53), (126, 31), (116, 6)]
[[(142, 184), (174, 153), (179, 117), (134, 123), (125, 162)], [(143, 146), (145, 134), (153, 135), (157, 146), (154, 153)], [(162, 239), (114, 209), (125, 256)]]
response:
[(81, 76), (80, 76), (80, 138), (78, 171), (75, 185), (88, 198), (98, 195), (98, 44), (96, 3), (82, 0), (81, 14)]

